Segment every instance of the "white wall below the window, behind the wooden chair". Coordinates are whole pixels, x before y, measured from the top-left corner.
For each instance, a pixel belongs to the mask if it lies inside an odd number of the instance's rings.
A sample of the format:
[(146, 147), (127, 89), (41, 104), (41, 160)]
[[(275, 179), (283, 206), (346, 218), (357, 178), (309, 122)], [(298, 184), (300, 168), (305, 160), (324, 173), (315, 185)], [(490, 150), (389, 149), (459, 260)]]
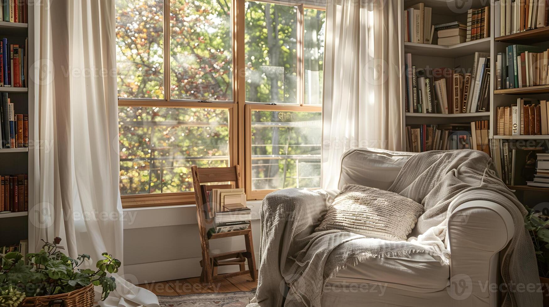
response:
[[(249, 201), (256, 265), (259, 264), (261, 201)], [(200, 276), (200, 238), (194, 205), (124, 209), (124, 274), (133, 283)], [(244, 237), (210, 241), (212, 253), (245, 249)], [(220, 273), (238, 266), (220, 268)]]

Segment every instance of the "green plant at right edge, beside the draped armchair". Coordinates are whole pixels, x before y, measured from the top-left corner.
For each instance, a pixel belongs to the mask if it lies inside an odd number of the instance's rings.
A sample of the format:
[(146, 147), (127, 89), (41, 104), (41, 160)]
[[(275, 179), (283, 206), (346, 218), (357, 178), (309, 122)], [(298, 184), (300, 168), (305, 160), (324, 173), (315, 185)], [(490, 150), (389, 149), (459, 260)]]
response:
[[(526, 207), (528, 215), (524, 218), (524, 228), (530, 233), (536, 253), (537, 270), (540, 282), (549, 285), (549, 217), (544, 212)], [(549, 306), (549, 288), (544, 289), (544, 306)]]

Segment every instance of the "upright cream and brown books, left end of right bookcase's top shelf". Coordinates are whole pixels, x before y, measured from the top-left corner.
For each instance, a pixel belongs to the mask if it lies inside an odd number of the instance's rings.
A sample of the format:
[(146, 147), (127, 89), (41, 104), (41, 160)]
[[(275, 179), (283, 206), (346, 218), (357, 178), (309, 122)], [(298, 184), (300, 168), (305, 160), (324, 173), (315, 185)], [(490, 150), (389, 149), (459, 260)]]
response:
[(432, 8), (418, 3), (404, 11), (404, 41), (432, 44), (434, 27), (432, 25)]

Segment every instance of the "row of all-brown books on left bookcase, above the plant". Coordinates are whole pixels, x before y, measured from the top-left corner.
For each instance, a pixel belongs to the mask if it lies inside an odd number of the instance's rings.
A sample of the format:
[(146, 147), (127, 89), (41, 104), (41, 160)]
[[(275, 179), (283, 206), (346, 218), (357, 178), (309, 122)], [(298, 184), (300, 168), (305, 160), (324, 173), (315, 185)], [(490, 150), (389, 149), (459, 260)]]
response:
[(0, 176), (0, 213), (29, 211), (29, 176)]

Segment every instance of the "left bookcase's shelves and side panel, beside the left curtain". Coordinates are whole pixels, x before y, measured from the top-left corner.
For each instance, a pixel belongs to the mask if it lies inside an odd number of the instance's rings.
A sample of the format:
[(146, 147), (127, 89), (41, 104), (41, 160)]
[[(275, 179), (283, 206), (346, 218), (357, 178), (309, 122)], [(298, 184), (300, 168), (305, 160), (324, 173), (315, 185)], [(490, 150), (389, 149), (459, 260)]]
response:
[[(35, 44), (35, 24), (33, 5), (35, 2), (27, 2), (28, 23), (15, 23), (0, 21), (0, 38), (7, 38), (8, 43), (25, 44), (27, 39), (27, 88), (0, 87), (0, 92), (8, 93), (14, 103), (15, 113), (28, 114), (29, 116), (29, 147), (0, 149), (0, 174), (28, 174), (29, 177), (29, 212), (33, 212), (34, 204), (38, 201), (40, 190), (39, 174), (39, 146), (38, 143), (38, 100), (37, 88), (32, 80), (36, 80), (36, 72), (31, 68), (36, 61), (37, 46)], [(40, 5), (40, 4), (37, 4)], [(29, 240), (29, 252), (34, 252), (35, 218), (36, 214), (29, 212), (11, 212), (0, 214), (0, 246), (13, 245), (20, 240)]]

